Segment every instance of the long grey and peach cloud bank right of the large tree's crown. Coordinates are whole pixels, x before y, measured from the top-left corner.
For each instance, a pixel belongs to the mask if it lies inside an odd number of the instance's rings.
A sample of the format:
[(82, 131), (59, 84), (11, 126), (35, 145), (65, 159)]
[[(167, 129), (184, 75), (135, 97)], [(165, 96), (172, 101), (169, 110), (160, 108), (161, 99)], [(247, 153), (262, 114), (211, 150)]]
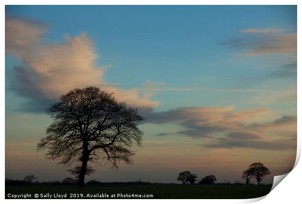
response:
[[(233, 106), (194, 107), (151, 113), (146, 117), (146, 122), (177, 123), (184, 130), (157, 136), (180, 134), (199, 138), (203, 141), (203, 147), (248, 147), (264, 150), (294, 148), (297, 116), (283, 116), (272, 120), (273, 117), (272, 112), (264, 108), (235, 111)], [(285, 130), (287, 132), (283, 133)], [(290, 135), (291, 138), (274, 139), (284, 135)]]

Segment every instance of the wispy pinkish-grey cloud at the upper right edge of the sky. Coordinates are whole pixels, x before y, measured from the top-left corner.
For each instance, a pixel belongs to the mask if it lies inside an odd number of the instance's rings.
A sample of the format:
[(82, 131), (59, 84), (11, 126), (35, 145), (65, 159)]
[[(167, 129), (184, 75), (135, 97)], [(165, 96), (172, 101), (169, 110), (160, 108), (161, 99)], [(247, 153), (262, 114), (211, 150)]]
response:
[(259, 80), (296, 77), (297, 34), (287, 31), (284, 33), (285, 31), (280, 28), (250, 28), (238, 31), (240, 37), (230, 38), (219, 44), (236, 49), (236, 56), (258, 57), (259, 61), (262, 60), (262, 67), (266, 64), (266, 67), (268, 65), (274, 68)]

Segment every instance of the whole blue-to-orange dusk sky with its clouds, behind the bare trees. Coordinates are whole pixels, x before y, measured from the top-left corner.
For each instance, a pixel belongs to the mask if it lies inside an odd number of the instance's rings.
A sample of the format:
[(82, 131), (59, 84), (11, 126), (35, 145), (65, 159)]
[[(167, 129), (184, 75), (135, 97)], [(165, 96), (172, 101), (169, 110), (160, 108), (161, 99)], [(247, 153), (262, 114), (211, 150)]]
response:
[(86, 181), (243, 182), (262, 162), (271, 183), (296, 158), (297, 7), (6, 6), (6, 178), (71, 176), (36, 145), (45, 109), (88, 85), (146, 119), (134, 164), (92, 165)]

